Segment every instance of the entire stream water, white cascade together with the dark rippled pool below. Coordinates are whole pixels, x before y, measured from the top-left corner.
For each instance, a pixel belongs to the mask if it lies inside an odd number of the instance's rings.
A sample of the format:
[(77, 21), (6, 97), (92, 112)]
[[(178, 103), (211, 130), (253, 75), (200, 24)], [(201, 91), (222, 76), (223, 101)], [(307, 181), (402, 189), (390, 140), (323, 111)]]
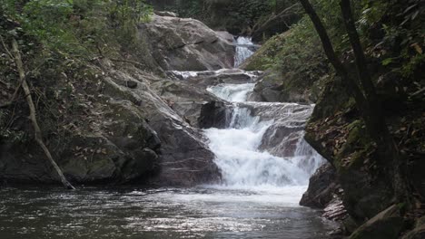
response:
[(327, 238), (332, 225), (298, 205), (321, 163), (302, 139), (313, 106), (246, 102), (253, 81), (208, 89), (233, 105), (227, 129), (204, 130), (222, 184), (0, 188), (0, 238)]

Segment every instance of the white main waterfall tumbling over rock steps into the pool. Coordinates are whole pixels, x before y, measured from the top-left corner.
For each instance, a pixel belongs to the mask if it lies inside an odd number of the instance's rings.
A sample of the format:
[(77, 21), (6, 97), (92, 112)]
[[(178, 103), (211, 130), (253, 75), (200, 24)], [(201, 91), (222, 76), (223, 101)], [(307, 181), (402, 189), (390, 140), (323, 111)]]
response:
[[(232, 188), (306, 186), (311, 174), (321, 164), (320, 155), (304, 141), (301, 129), (292, 157), (277, 157), (267, 149), (261, 150), (262, 140), (268, 137), (266, 131), (276, 126), (277, 122), (275, 119), (262, 119), (261, 116), (254, 115), (252, 109), (247, 107), (250, 102), (238, 103), (246, 101), (247, 94), (252, 90), (252, 83), (221, 84), (208, 89), (223, 100), (233, 102), (232, 119), (227, 129), (204, 130), (205, 136), (209, 139), (209, 147), (216, 156), (215, 163), (222, 171), (223, 185)], [(292, 115), (298, 113), (297, 117), (301, 115), (304, 122), (310, 116), (313, 107), (301, 105), (298, 107), (293, 103), (252, 102), (252, 106), (255, 105), (280, 107), (279, 110), (285, 106), (291, 109), (293, 107), (296, 110), (282, 110), (282, 112), (275, 110), (281, 114), (276, 117), (291, 120)], [(300, 114), (300, 110), (308, 111)], [(290, 123), (285, 122), (287, 125)]]

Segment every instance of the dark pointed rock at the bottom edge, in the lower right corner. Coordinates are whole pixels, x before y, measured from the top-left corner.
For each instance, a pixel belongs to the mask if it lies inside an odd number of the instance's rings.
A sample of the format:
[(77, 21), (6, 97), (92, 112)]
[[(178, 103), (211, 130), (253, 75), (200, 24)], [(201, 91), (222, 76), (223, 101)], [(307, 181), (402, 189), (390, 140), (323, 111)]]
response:
[(399, 206), (390, 206), (361, 225), (350, 239), (397, 239), (404, 228)]

